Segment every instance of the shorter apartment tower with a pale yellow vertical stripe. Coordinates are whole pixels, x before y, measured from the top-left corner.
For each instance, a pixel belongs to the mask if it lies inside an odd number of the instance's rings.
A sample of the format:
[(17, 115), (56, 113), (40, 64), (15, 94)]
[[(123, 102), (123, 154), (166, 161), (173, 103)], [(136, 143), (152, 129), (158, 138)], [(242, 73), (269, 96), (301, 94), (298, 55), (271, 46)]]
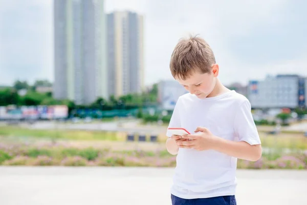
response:
[(140, 93), (144, 87), (143, 16), (129, 11), (107, 14), (109, 95)]

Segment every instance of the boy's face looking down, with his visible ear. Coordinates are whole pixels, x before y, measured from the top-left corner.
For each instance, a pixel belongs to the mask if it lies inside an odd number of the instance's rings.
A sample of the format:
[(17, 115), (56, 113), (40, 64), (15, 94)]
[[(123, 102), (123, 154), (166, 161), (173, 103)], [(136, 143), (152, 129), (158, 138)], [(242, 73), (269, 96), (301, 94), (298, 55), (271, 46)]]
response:
[(185, 80), (176, 78), (176, 80), (191, 94), (198, 98), (206, 98), (215, 86), (215, 79), (218, 75), (218, 65), (212, 66), (210, 73), (193, 72)]

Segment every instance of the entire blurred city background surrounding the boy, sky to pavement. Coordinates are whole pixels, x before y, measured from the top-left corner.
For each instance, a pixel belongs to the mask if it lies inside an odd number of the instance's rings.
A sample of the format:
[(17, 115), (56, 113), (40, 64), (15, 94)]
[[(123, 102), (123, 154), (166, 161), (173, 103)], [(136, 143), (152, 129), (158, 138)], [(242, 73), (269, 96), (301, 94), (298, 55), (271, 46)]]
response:
[[(152, 204), (169, 204), (176, 156), (166, 151), (165, 133), (187, 92), (169, 60), (189, 34), (207, 40), (222, 83), (252, 105), (263, 153), (255, 162), (238, 159), (240, 204), (254, 204), (247, 201), (260, 187), (260, 202), (307, 203), (300, 196), (307, 191), (305, 8), (299, 0), (0, 0), (0, 204), (69, 204), (78, 188), (59, 187), (75, 180), (97, 191), (74, 204), (149, 204), (126, 195), (116, 201), (113, 183), (131, 194), (151, 183)], [(50, 186), (27, 177), (36, 174)], [(45, 192), (33, 198), (38, 187)], [(67, 193), (62, 201), (50, 198), (56, 189)]]

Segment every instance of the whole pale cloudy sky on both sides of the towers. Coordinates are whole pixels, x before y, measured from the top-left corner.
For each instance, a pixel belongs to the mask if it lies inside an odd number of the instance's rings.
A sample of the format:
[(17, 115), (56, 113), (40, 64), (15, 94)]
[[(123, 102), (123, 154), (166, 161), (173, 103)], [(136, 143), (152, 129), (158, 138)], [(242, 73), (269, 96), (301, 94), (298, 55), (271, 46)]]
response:
[[(172, 79), (178, 40), (199, 34), (212, 47), (222, 83), (267, 75), (307, 77), (303, 0), (106, 0), (107, 13), (144, 15), (145, 84)], [(0, 0), (0, 85), (53, 81), (53, 0)]]

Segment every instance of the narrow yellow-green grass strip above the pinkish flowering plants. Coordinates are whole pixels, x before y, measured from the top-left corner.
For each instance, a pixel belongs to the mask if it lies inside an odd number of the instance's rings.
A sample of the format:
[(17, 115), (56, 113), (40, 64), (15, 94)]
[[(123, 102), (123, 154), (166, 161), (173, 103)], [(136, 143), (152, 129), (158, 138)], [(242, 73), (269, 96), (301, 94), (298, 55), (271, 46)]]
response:
[[(302, 133), (280, 133), (268, 135), (259, 132), (262, 147), (275, 149), (307, 150), (307, 137)], [(52, 140), (86, 140), (86, 141), (126, 141), (126, 134), (107, 131), (85, 130), (35, 130), (16, 126), (0, 127), (0, 136), (16, 138), (52, 139)], [(148, 137), (148, 136), (147, 136)], [(158, 141), (164, 143), (166, 136), (158, 135)], [(137, 139), (135, 139), (137, 140)]]

